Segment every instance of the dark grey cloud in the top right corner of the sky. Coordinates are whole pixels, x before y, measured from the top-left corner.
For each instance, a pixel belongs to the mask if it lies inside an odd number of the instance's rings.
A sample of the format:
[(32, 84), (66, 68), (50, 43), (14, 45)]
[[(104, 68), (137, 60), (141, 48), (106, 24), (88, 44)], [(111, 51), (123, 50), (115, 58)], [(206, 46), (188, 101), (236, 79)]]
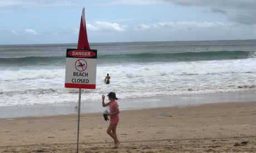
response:
[(163, 0), (181, 6), (203, 7), (204, 13), (222, 13), (230, 21), (242, 24), (256, 24), (256, 1), (255, 0)]

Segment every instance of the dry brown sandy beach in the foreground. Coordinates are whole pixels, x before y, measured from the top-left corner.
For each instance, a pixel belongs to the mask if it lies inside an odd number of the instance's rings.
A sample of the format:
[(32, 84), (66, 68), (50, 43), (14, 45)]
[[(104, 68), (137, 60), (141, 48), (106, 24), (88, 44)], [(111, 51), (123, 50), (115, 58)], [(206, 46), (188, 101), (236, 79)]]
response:
[[(80, 152), (256, 150), (255, 101), (121, 111), (115, 150), (102, 113), (80, 119)], [(0, 152), (76, 152), (77, 114), (0, 120)]]

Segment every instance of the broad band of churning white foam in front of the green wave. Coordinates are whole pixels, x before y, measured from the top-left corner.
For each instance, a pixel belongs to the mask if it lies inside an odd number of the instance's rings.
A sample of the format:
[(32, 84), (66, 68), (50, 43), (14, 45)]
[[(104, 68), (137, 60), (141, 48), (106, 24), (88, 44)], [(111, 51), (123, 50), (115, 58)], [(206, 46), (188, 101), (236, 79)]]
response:
[[(208, 60), (98, 66), (96, 89), (85, 89), (82, 101), (101, 100), (115, 91), (119, 98), (218, 93), (256, 89), (256, 60)], [(106, 74), (110, 85), (103, 83)], [(68, 103), (78, 89), (64, 88), (65, 67), (0, 70), (0, 106)]]

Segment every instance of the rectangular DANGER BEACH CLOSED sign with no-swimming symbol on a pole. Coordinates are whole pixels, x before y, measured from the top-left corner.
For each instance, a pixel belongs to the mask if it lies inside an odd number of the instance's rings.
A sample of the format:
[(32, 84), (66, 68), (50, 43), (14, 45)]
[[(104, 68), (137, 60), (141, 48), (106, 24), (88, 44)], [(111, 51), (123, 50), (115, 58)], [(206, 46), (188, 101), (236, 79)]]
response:
[(96, 89), (97, 50), (67, 49), (66, 88)]

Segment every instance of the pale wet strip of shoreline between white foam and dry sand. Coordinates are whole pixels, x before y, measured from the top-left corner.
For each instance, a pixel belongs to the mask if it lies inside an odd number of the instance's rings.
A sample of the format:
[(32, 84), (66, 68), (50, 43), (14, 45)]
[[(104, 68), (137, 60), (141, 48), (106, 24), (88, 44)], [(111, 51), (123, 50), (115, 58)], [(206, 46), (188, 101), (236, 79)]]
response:
[[(77, 95), (78, 96), (78, 95)], [(187, 107), (191, 105), (249, 102), (256, 99), (256, 90), (234, 91), (227, 93), (191, 94), (174, 96), (153, 96), (147, 98), (119, 99), (120, 110), (140, 110), (147, 108)], [(101, 113), (99, 101), (81, 101), (81, 114)], [(0, 119), (36, 116), (55, 116), (77, 114), (77, 103), (43, 104), (30, 106), (0, 107)]]

